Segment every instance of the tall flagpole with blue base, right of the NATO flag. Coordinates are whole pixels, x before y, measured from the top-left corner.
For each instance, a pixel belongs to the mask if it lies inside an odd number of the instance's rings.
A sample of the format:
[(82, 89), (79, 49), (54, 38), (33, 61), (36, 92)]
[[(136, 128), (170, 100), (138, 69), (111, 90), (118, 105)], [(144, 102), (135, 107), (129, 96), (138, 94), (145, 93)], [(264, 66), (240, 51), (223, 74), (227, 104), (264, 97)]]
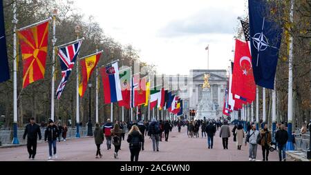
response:
[[(294, 0), (290, 1), (290, 23), (293, 22), (294, 17)], [(288, 143), (286, 145), (286, 150), (294, 150), (294, 145), (292, 144), (292, 54), (293, 49), (293, 39), (290, 35), (290, 54), (289, 54), (289, 70), (288, 70)]]

